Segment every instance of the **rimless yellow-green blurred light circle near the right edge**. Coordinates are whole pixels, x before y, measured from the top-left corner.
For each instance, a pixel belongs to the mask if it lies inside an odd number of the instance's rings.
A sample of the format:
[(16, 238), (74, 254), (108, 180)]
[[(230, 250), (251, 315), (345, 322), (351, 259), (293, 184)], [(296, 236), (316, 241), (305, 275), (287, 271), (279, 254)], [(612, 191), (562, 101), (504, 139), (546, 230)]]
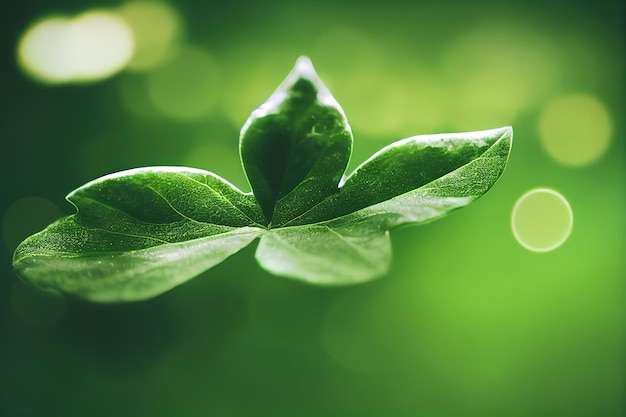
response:
[(548, 103), (539, 117), (539, 138), (556, 161), (583, 166), (598, 160), (611, 142), (611, 117), (595, 97), (574, 93)]

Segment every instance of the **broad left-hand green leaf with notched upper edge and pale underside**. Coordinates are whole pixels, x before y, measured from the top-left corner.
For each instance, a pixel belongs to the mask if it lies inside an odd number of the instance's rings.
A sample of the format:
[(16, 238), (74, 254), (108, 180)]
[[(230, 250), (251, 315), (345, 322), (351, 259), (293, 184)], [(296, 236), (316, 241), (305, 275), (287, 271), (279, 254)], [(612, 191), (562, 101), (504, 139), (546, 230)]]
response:
[(36, 285), (92, 301), (163, 293), (244, 248), (262, 230), (252, 195), (191, 168), (120, 172), (67, 199), (78, 212), (22, 242), (13, 265)]

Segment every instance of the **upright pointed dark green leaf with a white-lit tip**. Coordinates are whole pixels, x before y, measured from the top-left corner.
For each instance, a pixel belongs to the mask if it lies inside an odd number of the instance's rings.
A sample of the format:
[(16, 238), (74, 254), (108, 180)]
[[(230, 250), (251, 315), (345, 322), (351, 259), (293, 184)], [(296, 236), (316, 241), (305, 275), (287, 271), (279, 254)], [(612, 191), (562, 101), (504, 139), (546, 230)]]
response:
[(343, 110), (300, 58), (241, 131), (241, 160), (271, 227), (336, 193), (352, 151)]

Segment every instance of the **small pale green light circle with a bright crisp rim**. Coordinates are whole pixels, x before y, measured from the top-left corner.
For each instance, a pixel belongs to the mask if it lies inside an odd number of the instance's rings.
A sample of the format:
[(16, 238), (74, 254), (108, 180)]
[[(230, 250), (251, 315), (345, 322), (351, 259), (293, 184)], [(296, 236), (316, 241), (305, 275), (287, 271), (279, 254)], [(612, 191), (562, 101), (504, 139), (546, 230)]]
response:
[(549, 188), (536, 188), (522, 195), (511, 215), (515, 239), (533, 252), (548, 252), (561, 246), (570, 236), (573, 224), (569, 202)]

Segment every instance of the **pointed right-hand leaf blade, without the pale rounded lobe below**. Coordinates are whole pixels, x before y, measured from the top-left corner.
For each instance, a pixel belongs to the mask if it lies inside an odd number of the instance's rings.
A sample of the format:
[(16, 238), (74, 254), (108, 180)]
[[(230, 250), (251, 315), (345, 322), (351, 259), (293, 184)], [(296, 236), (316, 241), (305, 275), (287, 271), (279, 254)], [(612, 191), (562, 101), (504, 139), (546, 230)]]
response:
[[(509, 156), (512, 135), (512, 129), (505, 127), (400, 140), (374, 154), (346, 179), (338, 192), (287, 225), (341, 217), (422, 188), (428, 190), (428, 195), (446, 193), (447, 197), (475, 199), (500, 177)], [(420, 196), (427, 198), (426, 194)], [(388, 202), (385, 207), (391, 204)], [(415, 201), (409, 207), (419, 209), (423, 204)]]

